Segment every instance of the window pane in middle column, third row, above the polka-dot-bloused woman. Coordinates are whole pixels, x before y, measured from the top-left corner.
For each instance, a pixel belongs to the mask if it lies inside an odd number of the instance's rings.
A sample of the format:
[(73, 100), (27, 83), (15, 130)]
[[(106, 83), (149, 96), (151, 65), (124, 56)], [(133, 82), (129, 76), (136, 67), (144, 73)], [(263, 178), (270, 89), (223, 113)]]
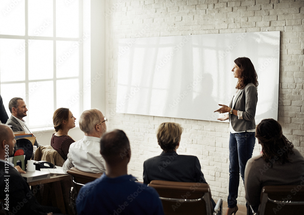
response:
[(53, 126), (54, 87), (53, 81), (29, 83), (29, 125), (30, 128)]

